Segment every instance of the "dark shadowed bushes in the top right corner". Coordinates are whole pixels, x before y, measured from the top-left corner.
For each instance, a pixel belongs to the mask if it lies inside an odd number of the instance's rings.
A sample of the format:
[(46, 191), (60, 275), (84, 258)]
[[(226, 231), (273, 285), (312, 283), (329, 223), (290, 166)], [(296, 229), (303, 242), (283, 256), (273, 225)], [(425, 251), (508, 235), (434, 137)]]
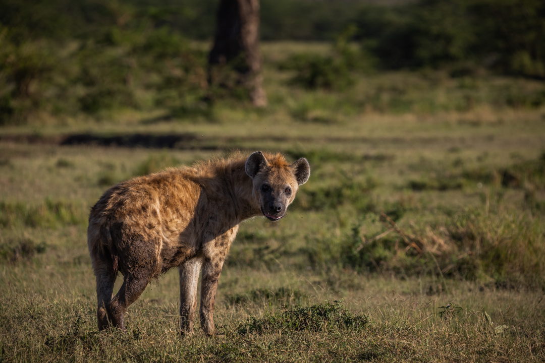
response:
[(540, 0), (421, 0), (368, 7), (362, 45), (389, 69), (474, 60), (504, 73), (545, 76), (545, 4)]

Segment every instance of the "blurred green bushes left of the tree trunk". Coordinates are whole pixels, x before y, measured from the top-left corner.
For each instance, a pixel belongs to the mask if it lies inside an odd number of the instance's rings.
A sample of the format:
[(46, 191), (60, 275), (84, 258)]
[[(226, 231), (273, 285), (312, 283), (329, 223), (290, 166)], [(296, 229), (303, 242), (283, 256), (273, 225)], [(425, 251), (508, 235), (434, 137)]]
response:
[(207, 88), (204, 52), (171, 29), (112, 26), (69, 45), (17, 34), (0, 24), (0, 124), (156, 106), (203, 113), (195, 105)]

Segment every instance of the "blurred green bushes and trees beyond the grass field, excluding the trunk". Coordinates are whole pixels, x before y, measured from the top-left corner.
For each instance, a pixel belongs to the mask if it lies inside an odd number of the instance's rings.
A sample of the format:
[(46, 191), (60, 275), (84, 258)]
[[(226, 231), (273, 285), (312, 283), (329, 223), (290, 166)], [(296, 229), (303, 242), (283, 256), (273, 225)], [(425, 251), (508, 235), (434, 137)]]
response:
[[(207, 84), (204, 41), (214, 34), (217, 3), (0, 0), (0, 124), (104, 119), (112, 109), (210, 118), (202, 102), (210, 95), (246, 102), (228, 77), (222, 87)], [(545, 77), (540, 0), (263, 0), (261, 34), (264, 41), (332, 42), (327, 53), (300, 52), (275, 64), (310, 89), (342, 91), (355, 76), (391, 70)], [(500, 103), (544, 102), (541, 87)]]

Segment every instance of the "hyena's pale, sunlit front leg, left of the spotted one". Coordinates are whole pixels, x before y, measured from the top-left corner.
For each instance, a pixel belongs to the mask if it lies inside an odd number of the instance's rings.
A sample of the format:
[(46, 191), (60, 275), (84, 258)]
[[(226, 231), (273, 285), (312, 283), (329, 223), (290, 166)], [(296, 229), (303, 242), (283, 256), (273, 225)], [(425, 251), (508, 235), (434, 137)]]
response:
[(193, 258), (180, 266), (180, 334), (193, 333), (193, 319), (197, 310), (197, 285), (202, 258)]

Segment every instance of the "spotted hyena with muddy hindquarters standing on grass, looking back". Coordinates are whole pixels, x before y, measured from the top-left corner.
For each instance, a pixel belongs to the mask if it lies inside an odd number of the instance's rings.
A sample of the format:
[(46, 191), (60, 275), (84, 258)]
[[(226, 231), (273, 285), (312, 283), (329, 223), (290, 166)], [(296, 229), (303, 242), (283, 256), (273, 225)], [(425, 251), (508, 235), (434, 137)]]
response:
[[(98, 298), (99, 330), (125, 329), (125, 311), (154, 278), (180, 272), (180, 331), (193, 332), (202, 270), (201, 326), (214, 334), (214, 300), (223, 261), (240, 222), (284, 217), (310, 176), (305, 158), (281, 155), (202, 162), (136, 177), (108, 189), (91, 208), (87, 231)], [(112, 298), (117, 273), (123, 285)]]

